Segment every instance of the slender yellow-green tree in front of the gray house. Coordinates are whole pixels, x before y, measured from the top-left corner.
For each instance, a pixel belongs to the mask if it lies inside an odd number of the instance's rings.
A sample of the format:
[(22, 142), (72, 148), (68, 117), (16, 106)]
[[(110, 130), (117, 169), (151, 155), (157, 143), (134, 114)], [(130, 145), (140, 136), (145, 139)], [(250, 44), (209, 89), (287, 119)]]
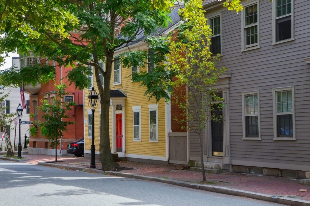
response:
[[(222, 104), (214, 101), (223, 101), (216, 95), (214, 88), (218, 78), (225, 68), (216, 68), (217, 56), (211, 56), (209, 46), (212, 31), (207, 25), (201, 6), (193, 0), (185, 6), (188, 15), (179, 27), (177, 35), (169, 37), (169, 50), (167, 54), (167, 71), (175, 74), (174, 81), (167, 82), (173, 89), (171, 95), (174, 104), (182, 109), (183, 118), (176, 118), (180, 124), (186, 124), (189, 131), (199, 137), (201, 168), (203, 181), (206, 181), (203, 160), (203, 132), (207, 129), (209, 121), (219, 121), (221, 115), (213, 111), (221, 110)], [(200, 4), (201, 5), (201, 4)], [(186, 90), (184, 90), (184, 88)], [(183, 89), (183, 92), (180, 90)]]

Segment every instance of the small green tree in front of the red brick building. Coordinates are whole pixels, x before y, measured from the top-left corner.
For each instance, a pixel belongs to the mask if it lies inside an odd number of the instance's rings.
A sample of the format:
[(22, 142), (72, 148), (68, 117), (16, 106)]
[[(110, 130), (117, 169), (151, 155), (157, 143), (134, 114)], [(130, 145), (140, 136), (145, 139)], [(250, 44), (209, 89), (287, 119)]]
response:
[[(68, 111), (72, 110), (74, 102), (65, 103), (62, 101), (64, 95), (68, 93), (65, 91), (66, 85), (55, 85), (56, 96), (53, 97), (51, 103), (48, 100), (42, 100), (42, 106), (38, 107), (42, 112), (42, 118), (45, 121), (36, 121), (36, 127), (30, 128), (30, 134), (35, 135), (37, 128), (41, 129), (41, 134), (48, 137), (50, 146), (55, 149), (55, 162), (57, 162), (57, 146), (60, 144), (60, 138), (63, 132), (67, 130), (69, 124), (74, 124), (73, 121), (66, 120), (69, 118)], [(33, 116), (33, 114), (31, 115)]]

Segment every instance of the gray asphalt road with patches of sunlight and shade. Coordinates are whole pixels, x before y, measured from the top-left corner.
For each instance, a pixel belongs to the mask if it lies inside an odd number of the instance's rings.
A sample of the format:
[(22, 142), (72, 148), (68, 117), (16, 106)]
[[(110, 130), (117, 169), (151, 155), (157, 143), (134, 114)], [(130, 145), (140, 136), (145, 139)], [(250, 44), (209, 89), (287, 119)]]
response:
[(0, 160), (0, 206), (271, 206), (249, 198), (145, 180)]

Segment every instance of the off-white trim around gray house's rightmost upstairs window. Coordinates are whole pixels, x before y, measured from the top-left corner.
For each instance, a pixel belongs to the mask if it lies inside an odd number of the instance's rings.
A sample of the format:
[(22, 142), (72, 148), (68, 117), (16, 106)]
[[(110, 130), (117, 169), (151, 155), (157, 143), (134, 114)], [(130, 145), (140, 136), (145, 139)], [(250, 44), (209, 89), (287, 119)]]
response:
[[(282, 41), (276, 41), (276, 0), (272, 1), (272, 45), (275, 44), (281, 44), (288, 41), (293, 41), (294, 39), (294, 0), (291, 1), (291, 32), (292, 37), (290, 39), (282, 40)], [(285, 16), (289, 15), (283, 15), (279, 18), (283, 18)]]

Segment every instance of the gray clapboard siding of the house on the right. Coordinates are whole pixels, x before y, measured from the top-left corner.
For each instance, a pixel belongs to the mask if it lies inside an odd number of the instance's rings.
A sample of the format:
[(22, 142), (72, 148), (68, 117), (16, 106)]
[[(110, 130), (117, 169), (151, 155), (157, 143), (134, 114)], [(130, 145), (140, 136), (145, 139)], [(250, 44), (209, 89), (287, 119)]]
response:
[[(229, 86), (232, 161), (304, 165), (310, 162), (310, 1), (294, 1), (295, 40), (272, 45), (272, 2), (259, 0), (260, 48), (241, 52), (241, 12), (222, 10), (223, 57)], [(296, 141), (273, 140), (272, 88), (294, 86)], [(259, 90), (262, 140), (242, 140), (241, 92)], [(190, 154), (197, 155), (197, 136)], [(193, 149), (195, 147), (195, 149)]]

